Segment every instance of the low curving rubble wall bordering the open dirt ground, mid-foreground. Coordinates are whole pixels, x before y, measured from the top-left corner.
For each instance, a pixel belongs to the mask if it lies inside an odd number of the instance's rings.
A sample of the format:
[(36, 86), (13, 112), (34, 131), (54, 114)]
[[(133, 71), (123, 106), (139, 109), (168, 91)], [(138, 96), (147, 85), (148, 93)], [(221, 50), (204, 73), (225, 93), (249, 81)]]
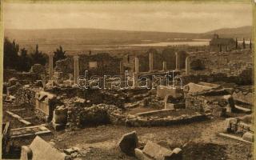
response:
[[(170, 112), (173, 113), (175, 110), (170, 110)], [(198, 112), (174, 115), (170, 112), (162, 117), (155, 115), (140, 116), (126, 114), (123, 110), (113, 105), (98, 104), (85, 108), (81, 106), (70, 106), (67, 112), (66, 127), (72, 129), (75, 127), (97, 126), (102, 124), (123, 126), (170, 126), (202, 121), (211, 115), (200, 114)]]

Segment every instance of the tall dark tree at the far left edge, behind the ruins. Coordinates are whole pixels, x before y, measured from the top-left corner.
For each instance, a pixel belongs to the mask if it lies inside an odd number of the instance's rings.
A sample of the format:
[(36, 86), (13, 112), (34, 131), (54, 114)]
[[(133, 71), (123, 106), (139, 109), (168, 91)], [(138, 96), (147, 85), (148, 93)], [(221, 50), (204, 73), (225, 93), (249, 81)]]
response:
[(17, 69), (16, 63), (18, 60), (19, 46), (15, 40), (10, 42), (9, 38), (4, 39), (4, 55), (3, 55), (3, 66), (4, 69)]

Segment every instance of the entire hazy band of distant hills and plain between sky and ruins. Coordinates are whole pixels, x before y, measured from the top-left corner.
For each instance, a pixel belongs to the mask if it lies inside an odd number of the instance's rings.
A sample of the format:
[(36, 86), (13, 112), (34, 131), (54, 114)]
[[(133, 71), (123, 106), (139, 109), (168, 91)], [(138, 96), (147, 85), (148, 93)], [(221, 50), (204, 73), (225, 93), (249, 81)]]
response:
[[(239, 28), (223, 28), (202, 34), (171, 33), (155, 31), (127, 31), (105, 29), (47, 29), (47, 30), (14, 30), (6, 29), (5, 37), (15, 39), (26, 50), (34, 50), (36, 44), (39, 50), (52, 51), (63, 46), (69, 53), (82, 50), (92, 50), (99, 46), (114, 46), (125, 44), (190, 41), (191, 39), (212, 38), (219, 34), (225, 38), (251, 38), (252, 26)], [(96, 49), (97, 50), (97, 49)]]

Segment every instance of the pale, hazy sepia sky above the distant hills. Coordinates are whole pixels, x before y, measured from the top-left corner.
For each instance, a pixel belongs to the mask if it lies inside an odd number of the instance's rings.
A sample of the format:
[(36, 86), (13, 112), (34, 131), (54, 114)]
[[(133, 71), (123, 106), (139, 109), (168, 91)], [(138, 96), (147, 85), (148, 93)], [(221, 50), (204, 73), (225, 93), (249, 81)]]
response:
[(250, 25), (250, 2), (4, 2), (6, 29), (101, 28), (203, 33)]

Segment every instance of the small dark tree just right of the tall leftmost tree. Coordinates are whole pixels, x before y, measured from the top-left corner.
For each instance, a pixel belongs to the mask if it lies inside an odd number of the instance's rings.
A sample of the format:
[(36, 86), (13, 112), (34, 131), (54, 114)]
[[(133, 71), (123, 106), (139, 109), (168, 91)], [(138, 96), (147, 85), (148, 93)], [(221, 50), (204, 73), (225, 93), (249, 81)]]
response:
[(17, 70), (18, 71), (29, 71), (31, 67), (31, 59), (27, 55), (27, 50), (25, 48), (22, 48), (20, 50), (20, 56), (18, 57), (18, 62), (17, 62)]

